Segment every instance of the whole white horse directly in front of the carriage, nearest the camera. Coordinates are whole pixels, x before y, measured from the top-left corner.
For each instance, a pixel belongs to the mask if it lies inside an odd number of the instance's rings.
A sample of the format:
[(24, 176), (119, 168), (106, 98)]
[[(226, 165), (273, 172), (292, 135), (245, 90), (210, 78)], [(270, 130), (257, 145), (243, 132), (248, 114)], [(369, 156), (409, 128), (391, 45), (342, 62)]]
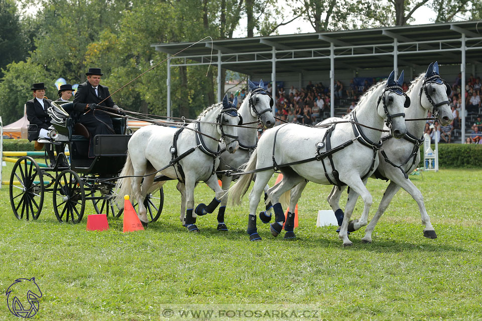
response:
[[(207, 107), (197, 121), (185, 127), (177, 129), (150, 125), (136, 131), (129, 140), (126, 165), (120, 175), (136, 177), (117, 181), (117, 203), (123, 204), (124, 195), (131, 195), (139, 204), (140, 220), (146, 224), (148, 219), (143, 203), (146, 195), (159, 189), (167, 180), (178, 179), (177, 189), (182, 199), (181, 222), (188, 231), (199, 231), (195, 225), (196, 215), (193, 214), (194, 187), (196, 183), (204, 181), (215, 192), (208, 206), (212, 212), (224, 195), (215, 175), (219, 165), (219, 141), (226, 140), (230, 153), (239, 146), (237, 127), (231, 126), (240, 123), (236, 104), (236, 98), (230, 103), (224, 96), (222, 103)], [(150, 173), (155, 174), (146, 176)], [(161, 179), (153, 187), (156, 175), (162, 175), (166, 180)], [(142, 176), (145, 177), (141, 187)]]

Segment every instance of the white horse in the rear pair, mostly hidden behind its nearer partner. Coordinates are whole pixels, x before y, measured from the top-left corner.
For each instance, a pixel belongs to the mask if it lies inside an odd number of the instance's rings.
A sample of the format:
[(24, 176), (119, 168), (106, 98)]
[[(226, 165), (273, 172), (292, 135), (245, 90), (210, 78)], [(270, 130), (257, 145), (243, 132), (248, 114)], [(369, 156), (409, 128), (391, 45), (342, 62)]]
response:
[[(260, 80), (260, 85), (256, 86), (248, 79), (250, 93), (247, 95), (238, 113), (246, 123), (260, 121), (266, 128), (271, 128), (275, 125), (275, 117), (273, 116), (273, 98), (264, 89), (263, 80)], [(249, 128), (252, 127), (252, 128)], [(223, 152), (219, 156), (219, 171), (230, 171), (236, 173), (240, 166), (248, 162), (251, 152), (258, 144), (258, 128), (256, 124), (247, 125), (246, 127), (239, 127), (237, 129), (239, 134), (239, 149), (235, 153), (228, 153), (225, 146), (221, 150)], [(234, 174), (235, 175), (235, 174)], [(231, 185), (233, 176), (221, 176), (222, 189), (227, 192)], [(265, 191), (269, 188), (265, 186)], [(227, 231), (227, 226), (224, 223), (224, 212), (226, 209), (227, 198), (221, 200), (219, 212), (217, 214), (217, 230)], [(269, 210), (269, 206), (267, 208)]]

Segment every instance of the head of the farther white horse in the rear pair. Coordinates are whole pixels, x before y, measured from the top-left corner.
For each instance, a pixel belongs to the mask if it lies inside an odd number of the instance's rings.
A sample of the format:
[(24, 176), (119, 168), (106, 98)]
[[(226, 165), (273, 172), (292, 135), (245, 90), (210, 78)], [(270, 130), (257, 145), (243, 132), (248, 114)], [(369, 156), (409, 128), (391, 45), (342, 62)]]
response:
[(265, 90), (263, 80), (261, 79), (260, 85), (256, 86), (248, 79), (248, 85), (250, 87), (249, 104), (251, 115), (260, 119), (266, 128), (273, 127), (275, 125), (275, 117), (273, 116), (274, 100)]

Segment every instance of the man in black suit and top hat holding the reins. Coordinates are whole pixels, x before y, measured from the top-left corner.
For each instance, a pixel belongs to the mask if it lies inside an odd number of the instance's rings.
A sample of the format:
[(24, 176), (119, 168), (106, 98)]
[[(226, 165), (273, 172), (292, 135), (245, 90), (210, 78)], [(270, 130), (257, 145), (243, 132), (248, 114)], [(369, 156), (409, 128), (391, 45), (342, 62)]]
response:
[(87, 76), (87, 81), (80, 84), (77, 88), (73, 108), (81, 113), (79, 123), (83, 124), (89, 131), (89, 157), (92, 158), (94, 157), (94, 136), (115, 134), (110, 116), (104, 113), (101, 108), (116, 108), (116, 112), (119, 114), (123, 110), (109, 97), (109, 89), (99, 84), (103, 75), (100, 68), (89, 68), (85, 75)]

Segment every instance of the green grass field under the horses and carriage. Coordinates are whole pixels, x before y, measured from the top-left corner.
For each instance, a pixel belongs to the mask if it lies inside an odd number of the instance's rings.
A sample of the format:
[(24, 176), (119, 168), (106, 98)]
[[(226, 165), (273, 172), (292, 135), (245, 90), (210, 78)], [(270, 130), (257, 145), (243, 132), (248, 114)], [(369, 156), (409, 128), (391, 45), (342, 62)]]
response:
[[(188, 234), (173, 182), (165, 185), (159, 221), (127, 234), (122, 218), (109, 219), (104, 232), (87, 232), (85, 216), (77, 225), (59, 224), (51, 195), (37, 221), (18, 221), (4, 186), (0, 288), (5, 293), (16, 278), (36, 277), (43, 292), (37, 319), (159, 320), (168, 319), (161, 306), (188, 303), (309, 306), (318, 310), (313, 319), (482, 319), (482, 171), (442, 170), (411, 179), (425, 197), (438, 238), (423, 237), (417, 205), (402, 191), (373, 243), (360, 242), (362, 229), (350, 235), (349, 248), (342, 248), (334, 227), (316, 228), (317, 211), (328, 209), (330, 187), (312, 183), (299, 203), (298, 238), (273, 238), (258, 220), (262, 242), (248, 241), (247, 199), (226, 210), (229, 232), (218, 233), (211, 214), (198, 219), (201, 233)], [(387, 184), (369, 180), (370, 217)], [(212, 197), (205, 184), (196, 188), (196, 204)], [(359, 200), (354, 217), (362, 207)], [(91, 205), (87, 213), (93, 213)], [(15, 318), (5, 296), (3, 302), (0, 319)]]

